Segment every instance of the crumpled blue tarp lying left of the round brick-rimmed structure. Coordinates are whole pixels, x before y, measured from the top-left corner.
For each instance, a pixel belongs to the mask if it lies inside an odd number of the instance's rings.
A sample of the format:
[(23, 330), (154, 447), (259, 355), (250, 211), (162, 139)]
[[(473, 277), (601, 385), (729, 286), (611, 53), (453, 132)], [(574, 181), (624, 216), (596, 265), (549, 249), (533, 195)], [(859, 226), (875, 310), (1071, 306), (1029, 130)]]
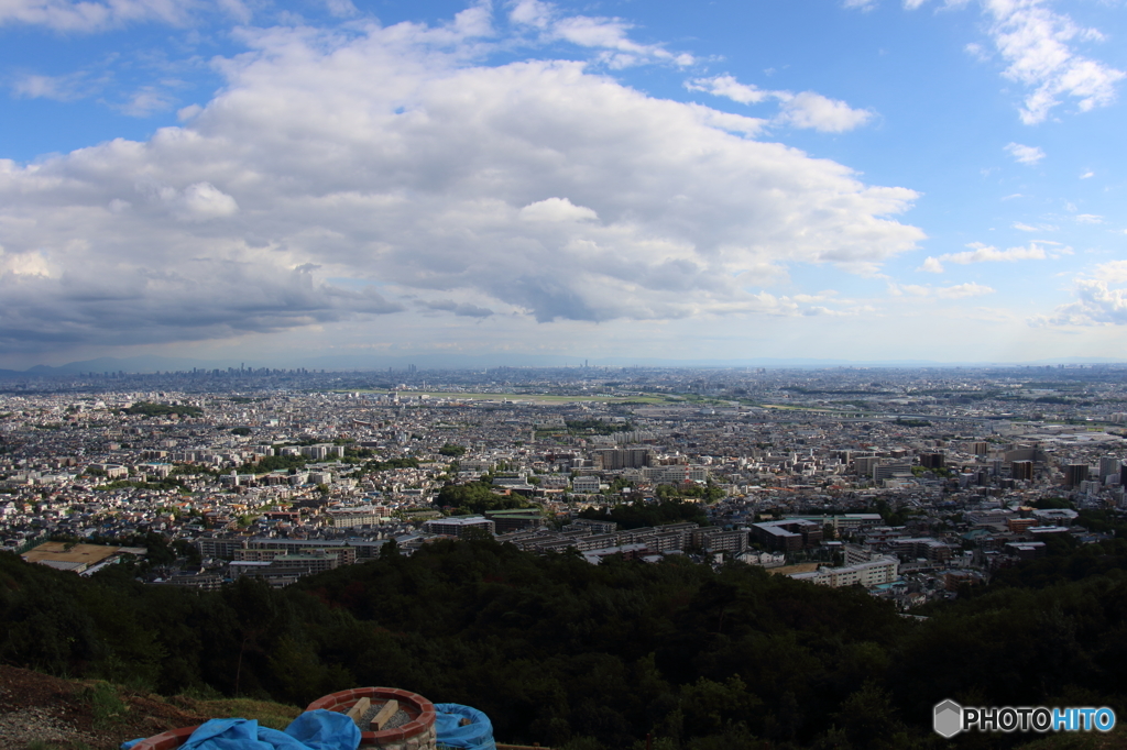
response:
[[(130, 750), (141, 740), (122, 743)], [(345, 714), (307, 711), (284, 732), (250, 718), (213, 718), (201, 724), (180, 750), (356, 750), (360, 729)]]

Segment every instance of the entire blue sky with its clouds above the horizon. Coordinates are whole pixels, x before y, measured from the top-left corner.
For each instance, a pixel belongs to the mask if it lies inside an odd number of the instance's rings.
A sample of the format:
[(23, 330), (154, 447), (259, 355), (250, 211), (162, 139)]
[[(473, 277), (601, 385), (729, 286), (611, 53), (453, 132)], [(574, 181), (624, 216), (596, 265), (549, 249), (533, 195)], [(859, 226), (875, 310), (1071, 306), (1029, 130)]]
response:
[(0, 0), (0, 367), (1125, 359), (1125, 89), (1127, 0)]

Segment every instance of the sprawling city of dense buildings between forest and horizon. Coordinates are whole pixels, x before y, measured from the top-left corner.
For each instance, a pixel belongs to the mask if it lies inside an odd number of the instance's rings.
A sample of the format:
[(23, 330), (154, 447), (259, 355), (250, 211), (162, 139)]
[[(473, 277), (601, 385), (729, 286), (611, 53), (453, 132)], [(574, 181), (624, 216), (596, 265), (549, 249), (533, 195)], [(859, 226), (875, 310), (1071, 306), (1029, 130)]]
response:
[[(0, 543), (83, 575), (148, 555), (150, 583), (215, 588), (491, 537), (592, 563), (760, 565), (908, 609), (1064, 536), (1106, 537), (1125, 507), (1125, 376), (1115, 365), (14, 376), (0, 382)], [(637, 527), (592, 512), (660, 503), (693, 503), (696, 520)]]

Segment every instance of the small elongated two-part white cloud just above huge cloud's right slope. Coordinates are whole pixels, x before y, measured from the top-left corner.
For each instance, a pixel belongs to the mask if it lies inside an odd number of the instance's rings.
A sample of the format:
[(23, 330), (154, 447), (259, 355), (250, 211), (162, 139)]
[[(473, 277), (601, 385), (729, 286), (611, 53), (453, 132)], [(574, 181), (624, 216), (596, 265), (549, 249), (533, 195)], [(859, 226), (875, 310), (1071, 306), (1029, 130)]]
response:
[(739, 104), (760, 104), (769, 99), (781, 102), (779, 115), (772, 120), (791, 127), (811, 128), (823, 133), (843, 133), (872, 119), (868, 109), (853, 109), (844, 101), (831, 99), (814, 91), (769, 91), (740, 83), (733, 75), (696, 78), (685, 82), (690, 91), (704, 91)]

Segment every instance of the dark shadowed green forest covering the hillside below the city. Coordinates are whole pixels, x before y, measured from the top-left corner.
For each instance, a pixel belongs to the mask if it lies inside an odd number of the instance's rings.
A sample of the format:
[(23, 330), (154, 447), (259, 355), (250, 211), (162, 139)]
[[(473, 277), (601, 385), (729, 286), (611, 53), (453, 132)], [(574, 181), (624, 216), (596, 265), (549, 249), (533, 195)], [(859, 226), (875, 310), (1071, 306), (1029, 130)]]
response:
[(944, 698), (1127, 708), (1127, 543), (1062, 545), (925, 620), (742, 564), (596, 566), (489, 539), (387, 550), (285, 590), (215, 592), (0, 554), (0, 660), (298, 705), (397, 686), (481, 708), (504, 741), (573, 750), (647, 733), (662, 750), (939, 748)]

